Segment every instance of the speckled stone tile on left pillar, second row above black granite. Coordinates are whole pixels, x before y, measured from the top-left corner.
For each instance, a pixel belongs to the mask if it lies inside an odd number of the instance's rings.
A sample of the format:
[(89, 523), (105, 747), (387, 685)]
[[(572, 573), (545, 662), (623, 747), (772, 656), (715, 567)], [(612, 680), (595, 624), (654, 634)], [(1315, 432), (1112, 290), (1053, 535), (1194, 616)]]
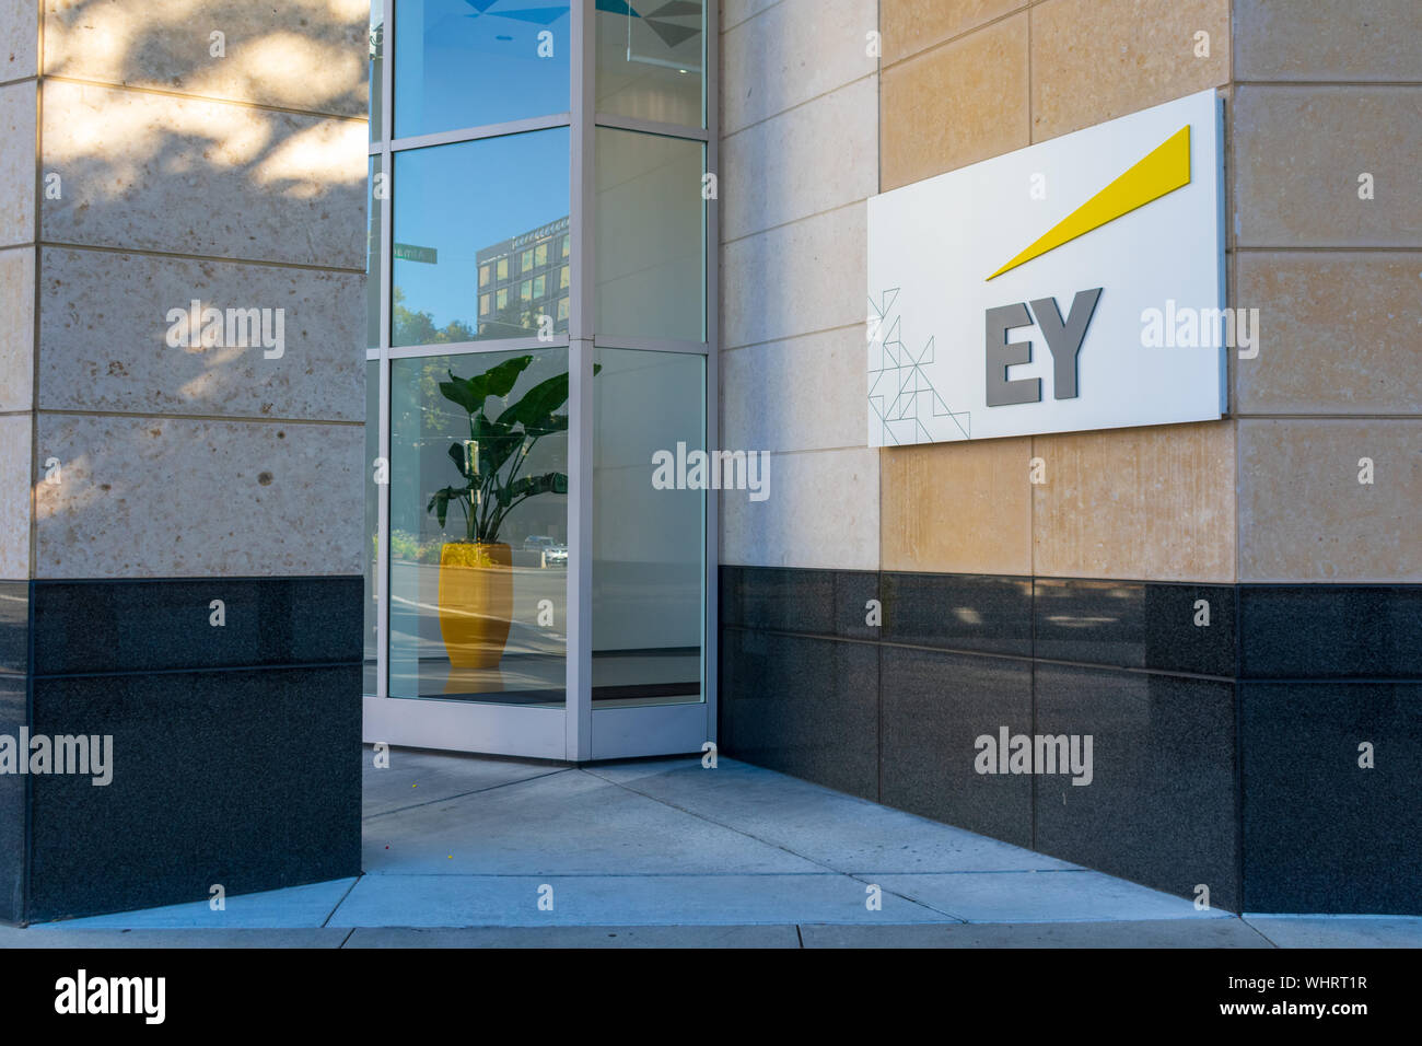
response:
[[(46, 248), (40, 275), (41, 408), (365, 418), (358, 273)], [(226, 330), (222, 346), (171, 347), (168, 313), (193, 299), (273, 320), (280, 310), (282, 356), (260, 340), (226, 344)]]

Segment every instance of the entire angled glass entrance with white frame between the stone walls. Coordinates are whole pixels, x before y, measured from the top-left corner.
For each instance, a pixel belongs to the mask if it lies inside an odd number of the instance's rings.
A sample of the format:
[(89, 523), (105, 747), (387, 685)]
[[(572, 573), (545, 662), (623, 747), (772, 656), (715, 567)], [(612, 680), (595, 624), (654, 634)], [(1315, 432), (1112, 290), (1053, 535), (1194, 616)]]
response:
[(367, 741), (715, 736), (714, 31), (603, 7), (373, 4)]

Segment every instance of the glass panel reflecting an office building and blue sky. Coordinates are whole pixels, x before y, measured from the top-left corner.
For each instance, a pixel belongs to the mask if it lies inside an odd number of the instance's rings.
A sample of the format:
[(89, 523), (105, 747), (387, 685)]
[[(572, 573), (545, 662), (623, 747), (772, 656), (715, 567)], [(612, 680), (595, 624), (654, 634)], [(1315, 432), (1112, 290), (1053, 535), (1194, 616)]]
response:
[[(556, 316), (556, 283), (535, 299), (530, 275), (538, 245), (567, 232), (567, 128), (397, 154), (392, 343), (528, 337), (540, 315)], [(559, 263), (546, 253), (545, 272)], [(493, 292), (488, 316), (479, 289)]]

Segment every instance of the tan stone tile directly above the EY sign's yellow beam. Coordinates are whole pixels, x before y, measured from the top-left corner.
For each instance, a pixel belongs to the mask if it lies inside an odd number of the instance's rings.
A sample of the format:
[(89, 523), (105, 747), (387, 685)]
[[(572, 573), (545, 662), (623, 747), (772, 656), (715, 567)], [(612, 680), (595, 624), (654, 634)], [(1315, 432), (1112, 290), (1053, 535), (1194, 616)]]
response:
[(1034, 142), (1230, 80), (1229, 0), (1047, 0), (1031, 19)]

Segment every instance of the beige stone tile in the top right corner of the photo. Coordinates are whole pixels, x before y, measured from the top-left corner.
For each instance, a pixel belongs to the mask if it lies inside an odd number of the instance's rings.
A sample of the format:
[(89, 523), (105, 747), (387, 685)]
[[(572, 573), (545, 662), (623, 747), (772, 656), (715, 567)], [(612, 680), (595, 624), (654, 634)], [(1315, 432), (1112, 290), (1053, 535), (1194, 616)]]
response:
[(1422, 80), (1418, 0), (1234, 0), (1239, 80)]

